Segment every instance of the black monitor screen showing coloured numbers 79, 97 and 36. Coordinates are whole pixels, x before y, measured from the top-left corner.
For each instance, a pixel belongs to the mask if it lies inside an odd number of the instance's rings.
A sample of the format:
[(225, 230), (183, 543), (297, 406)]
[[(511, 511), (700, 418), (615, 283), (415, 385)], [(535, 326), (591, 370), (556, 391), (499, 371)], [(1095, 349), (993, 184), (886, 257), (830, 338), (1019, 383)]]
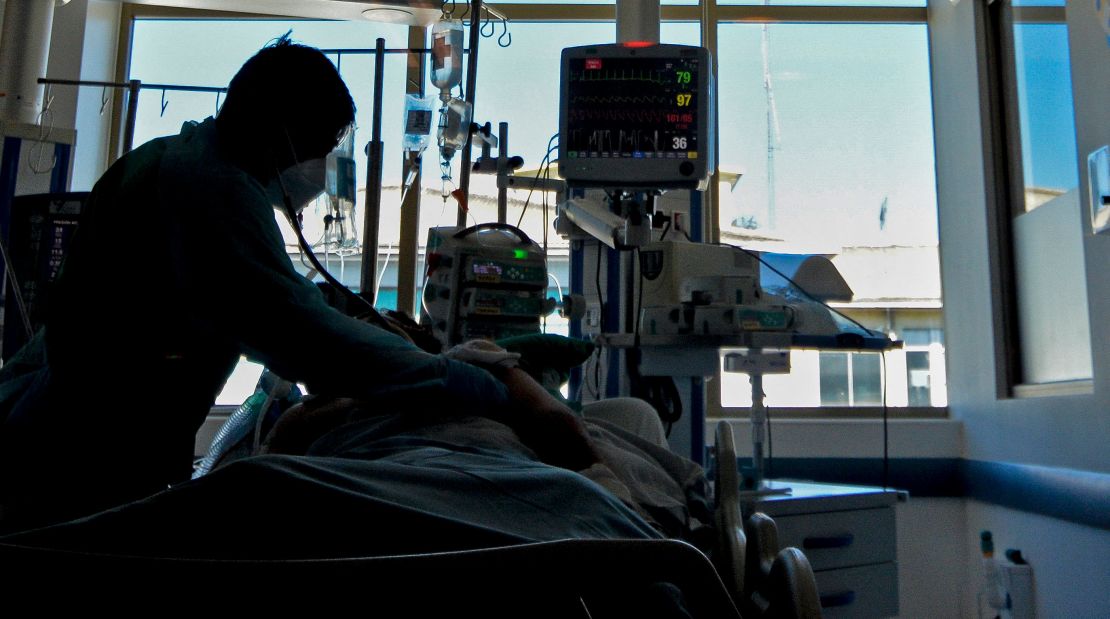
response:
[(698, 159), (698, 58), (573, 58), (567, 159)]

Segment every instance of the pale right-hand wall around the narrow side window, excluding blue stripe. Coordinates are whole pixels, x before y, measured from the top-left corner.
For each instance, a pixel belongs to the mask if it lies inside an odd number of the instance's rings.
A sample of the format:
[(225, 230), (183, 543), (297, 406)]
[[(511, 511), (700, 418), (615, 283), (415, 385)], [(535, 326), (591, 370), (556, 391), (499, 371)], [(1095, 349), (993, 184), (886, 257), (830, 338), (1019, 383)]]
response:
[[(963, 457), (969, 460), (1058, 467), (1110, 474), (1110, 331), (1100, 321), (1110, 312), (1110, 239), (1091, 239), (1083, 253), (1093, 352), (1091, 394), (999, 398), (996, 384), (993, 294), (990, 281), (985, 145), (979, 118), (980, 79), (976, 68), (976, 17), (985, 2), (929, 2), (935, 72), (937, 181), (940, 209), (941, 272), (948, 343), (949, 407), (965, 427)], [(1094, 19), (1093, 1), (1068, 6), (1076, 121), (1080, 156), (1110, 142), (1110, 48)], [(1078, 162), (1077, 162), (1078, 164)], [(1087, 200), (1086, 164), (1080, 181)], [(1061, 300), (1061, 302), (1067, 302)], [(1021, 467), (1019, 466), (1020, 470)], [(1106, 484), (1107, 475), (1073, 475)], [(1046, 518), (1028, 511), (970, 501), (965, 547), (978, 531), (991, 529), (1000, 549), (1030, 549), (1037, 581), (1038, 617), (1104, 616), (1110, 579), (1110, 530)], [(1072, 551), (1074, 550), (1074, 551)], [(1082, 555), (1078, 560), (1071, 557)], [(972, 585), (979, 574), (976, 552), (967, 556)], [(975, 586), (962, 607), (975, 617)]]

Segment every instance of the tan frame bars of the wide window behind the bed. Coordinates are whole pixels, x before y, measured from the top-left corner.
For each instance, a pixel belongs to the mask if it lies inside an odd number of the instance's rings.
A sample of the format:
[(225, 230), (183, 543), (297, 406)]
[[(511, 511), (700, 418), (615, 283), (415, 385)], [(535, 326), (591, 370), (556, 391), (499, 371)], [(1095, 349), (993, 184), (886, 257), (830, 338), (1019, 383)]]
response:
[[(598, 22), (615, 21), (616, 7), (614, 4), (532, 4), (513, 2), (490, 2), (490, 6), (514, 22)], [(170, 7), (158, 7), (148, 4), (124, 3), (121, 8), (120, 31), (118, 38), (115, 77), (117, 81), (125, 81), (130, 74), (131, 45), (133, 27), (139, 19), (287, 19), (297, 20), (304, 18), (286, 18), (271, 14), (242, 13), (231, 11), (182, 9)], [(702, 30), (702, 44), (709, 49), (714, 58), (717, 57), (717, 31), (718, 27), (727, 23), (805, 23), (805, 24), (837, 24), (837, 23), (909, 23), (925, 24), (928, 27), (927, 7), (836, 7), (836, 6), (763, 6), (763, 4), (728, 4), (719, 6), (716, 0), (700, 0), (696, 6), (660, 6), (660, 19), (663, 21), (698, 22)], [(425, 45), (425, 29), (412, 27), (408, 29), (410, 47)], [(408, 85), (424, 83), (423, 62), (408, 63)], [(715, 63), (715, 77), (718, 64)], [(412, 92), (413, 90), (408, 90)], [(123, 98), (115, 98), (112, 104), (112, 123), (108, 146), (109, 163), (121, 154), (121, 138), (123, 126)], [(714, 140), (718, 136), (714, 135)], [(719, 170), (715, 170), (719, 174)], [(416, 290), (416, 266), (418, 262), (418, 196), (421, 177), (417, 175), (415, 185), (416, 192), (410, 192), (406, 204), (402, 205), (401, 242), (397, 247), (400, 273), (398, 273), (398, 307), (414, 306)], [(709, 190), (703, 196), (706, 205), (706, 216), (703, 221), (703, 237), (710, 242), (718, 242), (720, 239), (719, 224), (719, 196), (715, 183), (710, 183)], [(413, 204), (407, 204), (407, 201)], [(411, 206), (411, 207), (410, 207)], [(411, 280), (410, 280), (411, 278)], [(406, 298), (413, 295), (412, 298)], [(850, 379), (850, 378), (849, 378)], [(722, 417), (747, 417), (748, 410), (744, 407), (725, 407), (720, 402), (719, 373), (715, 379), (705, 384), (707, 423), (714, 418)], [(886, 371), (882, 372), (884, 389), (886, 389)], [(888, 407), (886, 406), (849, 406), (849, 407), (791, 407), (776, 408), (775, 415), (778, 418), (880, 418), (887, 414), (901, 418), (945, 418), (948, 416), (948, 407)]]

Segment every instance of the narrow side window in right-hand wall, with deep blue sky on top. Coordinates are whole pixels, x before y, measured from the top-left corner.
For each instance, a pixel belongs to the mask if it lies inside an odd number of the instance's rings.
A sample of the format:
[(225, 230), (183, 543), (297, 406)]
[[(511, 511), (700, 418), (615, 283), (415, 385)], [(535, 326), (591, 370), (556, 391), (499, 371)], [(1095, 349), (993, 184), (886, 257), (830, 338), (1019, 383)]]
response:
[(1020, 385), (1089, 380), (1090, 317), (1064, 8), (1005, 0), (988, 14), (1006, 153), (997, 251), (1009, 255), (995, 276), (1006, 291), (1007, 396)]

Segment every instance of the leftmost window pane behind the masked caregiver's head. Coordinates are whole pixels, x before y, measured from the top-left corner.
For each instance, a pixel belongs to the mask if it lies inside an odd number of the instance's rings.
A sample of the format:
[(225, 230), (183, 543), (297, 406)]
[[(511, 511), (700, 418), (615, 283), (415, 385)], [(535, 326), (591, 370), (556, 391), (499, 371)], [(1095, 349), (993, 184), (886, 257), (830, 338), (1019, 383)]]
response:
[[(374, 22), (323, 22), (307, 20), (230, 20), (230, 19), (137, 19), (132, 31), (129, 79), (142, 80), (145, 83), (182, 84), (200, 87), (226, 87), (232, 75), (245, 59), (253, 55), (269, 41), (292, 31), (292, 37), (299, 42), (315, 45), (321, 49), (365, 49), (373, 47), (376, 38), (386, 40), (386, 47), (407, 47), (407, 28)], [(205, 41), (204, 45), (195, 44)], [(357, 113), (355, 124), (361, 128), (371, 126), (373, 104), (369, 95), (373, 88), (374, 63), (371, 55), (332, 54), (340, 73), (347, 83), (352, 97), (355, 98)], [(404, 83), (404, 55), (391, 54), (386, 59), (385, 84), (393, 87), (394, 92), (387, 93), (384, 100), (384, 118), (400, 119), (403, 98), (397, 94), (398, 84)], [(191, 120), (202, 120), (214, 115), (218, 109), (218, 98), (214, 93), (180, 92), (168, 90), (144, 89), (139, 99), (138, 120), (135, 125), (135, 144), (141, 144), (153, 138), (175, 134), (182, 123)], [(369, 133), (364, 129), (357, 132), (357, 140), (365, 142)], [(383, 140), (397, 140), (396, 136), (384, 135)], [(359, 212), (361, 216), (361, 192), (365, 191), (366, 155), (361, 149), (355, 149), (355, 166), (359, 179)], [(396, 226), (389, 222), (396, 221), (394, 213), (400, 211), (396, 196), (390, 201), (390, 191), (396, 194), (401, 176), (398, 158), (385, 158), (383, 173), (386, 189), (383, 192), (383, 224), (380, 236), (383, 260), (380, 262), (383, 282), (379, 290), (379, 306), (395, 306), (396, 274), (395, 264), (390, 260), (397, 244)], [(390, 180), (393, 179), (391, 182)], [(391, 207), (392, 205), (392, 207)], [(307, 214), (313, 207), (310, 206)], [(305, 237), (314, 243), (321, 262), (342, 282), (357, 290), (362, 260), (357, 253), (339, 250), (321, 243), (323, 236), (322, 205), (315, 209), (317, 217), (305, 216)], [(300, 251), (296, 248), (296, 237), (285, 223), (278, 216), (278, 223), (285, 234), (285, 242), (294, 264), (300, 264)], [(361, 217), (355, 227), (362, 231)], [(391, 271), (392, 268), (392, 271)], [(393, 284), (391, 287), (390, 284)], [(235, 405), (242, 403), (254, 390), (254, 385), (262, 372), (258, 364), (240, 363), (216, 404)]]

